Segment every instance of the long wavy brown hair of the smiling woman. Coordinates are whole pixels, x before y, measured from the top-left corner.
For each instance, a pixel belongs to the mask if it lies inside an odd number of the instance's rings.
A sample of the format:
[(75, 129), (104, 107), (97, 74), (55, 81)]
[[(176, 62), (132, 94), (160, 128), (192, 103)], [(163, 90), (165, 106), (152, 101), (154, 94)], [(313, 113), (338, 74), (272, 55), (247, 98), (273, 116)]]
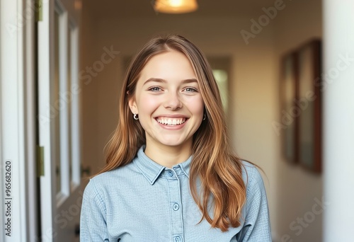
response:
[[(242, 163), (229, 144), (226, 119), (217, 83), (205, 56), (181, 35), (153, 38), (132, 60), (125, 74), (120, 97), (120, 120), (106, 146), (107, 164), (99, 172), (111, 171), (130, 163), (140, 146), (145, 144), (144, 129), (133, 120), (128, 101), (144, 65), (156, 54), (176, 50), (185, 54), (198, 79), (207, 120), (193, 135), (193, 159), (190, 163), (190, 192), (200, 211), (213, 228), (227, 231), (240, 226), (241, 209), (246, 202), (246, 185), (242, 179)], [(197, 189), (197, 180), (200, 188)], [(212, 204), (212, 216), (208, 213)]]

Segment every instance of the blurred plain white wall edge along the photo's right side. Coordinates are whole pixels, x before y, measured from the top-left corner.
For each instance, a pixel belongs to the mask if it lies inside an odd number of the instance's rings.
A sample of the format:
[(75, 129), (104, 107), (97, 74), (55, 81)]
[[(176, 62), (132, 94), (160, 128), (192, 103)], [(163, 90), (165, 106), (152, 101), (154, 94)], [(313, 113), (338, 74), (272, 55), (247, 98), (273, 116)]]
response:
[[(324, 241), (353, 241), (354, 1), (324, 1)], [(345, 60), (345, 61), (344, 61)], [(341, 221), (333, 223), (333, 221)]]

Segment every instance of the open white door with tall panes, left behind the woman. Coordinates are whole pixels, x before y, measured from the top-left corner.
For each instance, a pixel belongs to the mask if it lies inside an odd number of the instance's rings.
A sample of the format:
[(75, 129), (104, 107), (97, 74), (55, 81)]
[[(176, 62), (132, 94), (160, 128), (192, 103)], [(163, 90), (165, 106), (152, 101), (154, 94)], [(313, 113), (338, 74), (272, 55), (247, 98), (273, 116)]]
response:
[(76, 1), (42, 1), (38, 21), (41, 241), (78, 241), (82, 192)]

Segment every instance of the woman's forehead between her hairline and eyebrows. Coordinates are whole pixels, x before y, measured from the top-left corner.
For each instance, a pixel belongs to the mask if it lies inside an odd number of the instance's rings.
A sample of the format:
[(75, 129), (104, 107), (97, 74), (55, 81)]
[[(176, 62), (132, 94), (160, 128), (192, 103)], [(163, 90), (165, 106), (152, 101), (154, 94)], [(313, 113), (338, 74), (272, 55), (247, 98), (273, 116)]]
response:
[(196, 79), (188, 57), (176, 50), (156, 54), (142, 69), (139, 79), (165, 79), (166, 81)]

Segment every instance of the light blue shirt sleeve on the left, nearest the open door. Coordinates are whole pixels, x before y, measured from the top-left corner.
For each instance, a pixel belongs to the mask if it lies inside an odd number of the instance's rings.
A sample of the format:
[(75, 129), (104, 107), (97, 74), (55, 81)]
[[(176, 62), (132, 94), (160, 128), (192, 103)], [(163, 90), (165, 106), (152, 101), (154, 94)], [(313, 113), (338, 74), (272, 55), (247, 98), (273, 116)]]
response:
[(105, 204), (93, 180), (84, 191), (80, 217), (80, 241), (109, 241)]

